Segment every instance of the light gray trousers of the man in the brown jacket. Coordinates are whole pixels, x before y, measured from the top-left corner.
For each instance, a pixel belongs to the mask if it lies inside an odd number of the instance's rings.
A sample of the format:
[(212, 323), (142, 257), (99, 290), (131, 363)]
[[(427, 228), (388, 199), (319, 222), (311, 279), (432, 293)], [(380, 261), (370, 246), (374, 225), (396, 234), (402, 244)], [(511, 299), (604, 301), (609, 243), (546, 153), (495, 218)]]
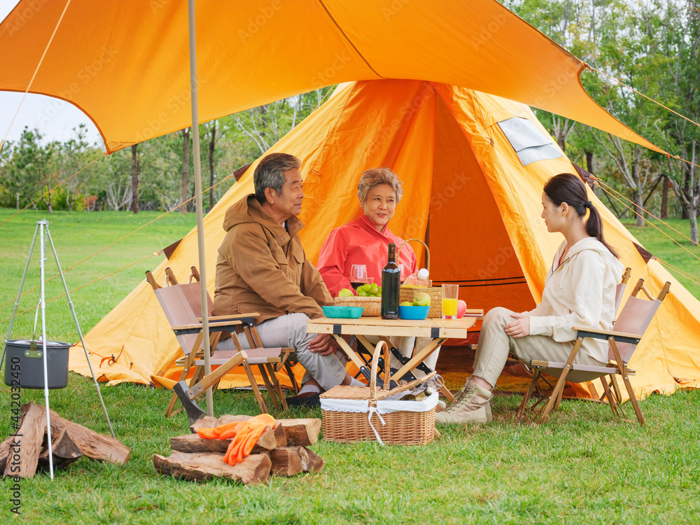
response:
[[(263, 321), (255, 328), (258, 329), (260, 340), (266, 348), (293, 346), (296, 349), (297, 359), (306, 369), (302, 384), (313, 377), (323, 390), (330, 390), (345, 379), (345, 364), (338, 360), (335, 353), (321, 356), (320, 353), (309, 351), (309, 342), (318, 334), (307, 333), (308, 322), (309, 316), (306, 314), (287, 314)], [(232, 334), (232, 337), (235, 337), (235, 334)], [(244, 349), (251, 347), (245, 334), (239, 334), (238, 340)], [(217, 349), (221, 350), (235, 348), (232, 339), (224, 339), (217, 346)]]

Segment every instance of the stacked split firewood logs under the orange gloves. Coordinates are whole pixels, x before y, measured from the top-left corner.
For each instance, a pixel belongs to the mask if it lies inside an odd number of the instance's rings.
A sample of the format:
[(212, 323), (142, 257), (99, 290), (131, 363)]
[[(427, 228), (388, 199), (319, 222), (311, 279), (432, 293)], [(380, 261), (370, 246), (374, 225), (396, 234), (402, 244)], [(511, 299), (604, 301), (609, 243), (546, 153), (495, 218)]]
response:
[(220, 418), (205, 416), (190, 426), (192, 434), (170, 439), (169, 457), (153, 454), (155, 470), (161, 474), (193, 481), (228, 477), (245, 484), (262, 483), (269, 475), (293, 476), (300, 472), (320, 472), (325, 465), (321, 456), (307, 449), (318, 441), (321, 419), (277, 419), (253, 447), (242, 463), (229, 465), (223, 456), (231, 440), (202, 439), (197, 428), (215, 427), (232, 421), (248, 421), (251, 416)]

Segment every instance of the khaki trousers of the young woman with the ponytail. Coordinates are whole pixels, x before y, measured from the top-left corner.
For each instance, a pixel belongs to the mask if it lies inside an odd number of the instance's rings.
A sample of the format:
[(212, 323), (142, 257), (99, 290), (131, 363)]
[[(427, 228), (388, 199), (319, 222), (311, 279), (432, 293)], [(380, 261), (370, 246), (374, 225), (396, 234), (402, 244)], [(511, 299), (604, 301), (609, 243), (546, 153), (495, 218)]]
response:
[[(473, 375), (481, 377), (491, 386), (496, 385), (509, 353), (514, 353), (526, 365), (529, 365), (531, 359), (565, 363), (575, 344), (575, 341), (556, 342), (547, 335), (510, 337), (503, 328), (514, 321), (510, 316), (512, 313), (509, 309), (496, 307), (489, 310), (482, 322)], [(605, 365), (585, 353), (583, 347), (573, 362), (578, 365)], [(573, 374), (570, 372), (568, 377), (575, 380)]]

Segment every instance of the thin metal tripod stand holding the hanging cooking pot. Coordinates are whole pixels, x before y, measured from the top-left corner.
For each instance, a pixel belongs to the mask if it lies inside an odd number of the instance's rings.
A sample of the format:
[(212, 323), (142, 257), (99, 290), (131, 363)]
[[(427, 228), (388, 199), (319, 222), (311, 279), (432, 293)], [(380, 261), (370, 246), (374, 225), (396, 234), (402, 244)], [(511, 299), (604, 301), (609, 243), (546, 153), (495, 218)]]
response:
[[(109, 415), (107, 414), (107, 409), (104, 406), (104, 400), (102, 400), (102, 392), (99, 390), (99, 384), (97, 383), (97, 377), (94, 375), (94, 370), (92, 370), (92, 363), (90, 363), (90, 356), (87, 355), (87, 346), (85, 345), (85, 340), (83, 339), (83, 331), (80, 330), (80, 324), (78, 323), (78, 317), (76, 316), (76, 310), (73, 308), (73, 301), (71, 300), (71, 294), (68, 291), (68, 285), (66, 284), (66, 279), (63, 276), (63, 271), (61, 269), (61, 263), (58, 262), (58, 254), (56, 253), (56, 247), (53, 245), (53, 239), (48, 230), (48, 221), (45, 219), (36, 222), (36, 230), (34, 230), (34, 238), (31, 239), (31, 247), (29, 248), (29, 256), (27, 257), (27, 265), (25, 265), (25, 272), (22, 274), (22, 281), (20, 282), (20, 291), (17, 293), (17, 300), (15, 300), (15, 307), (12, 311), (12, 317), (10, 318), (10, 328), (7, 331), (6, 341), (10, 340), (10, 333), (12, 333), (12, 325), (15, 322), (15, 314), (17, 314), (17, 309), (20, 305), (20, 297), (22, 297), (22, 288), (25, 286), (25, 278), (27, 277), (27, 270), (29, 269), (29, 262), (31, 261), (31, 254), (34, 253), (34, 244), (36, 244), (36, 235), (39, 235), (39, 244), (41, 246), (41, 258), (39, 260), (39, 268), (41, 270), (41, 300), (39, 306), (41, 307), (41, 342), (43, 344), (43, 373), (44, 373), (44, 399), (46, 405), (46, 431), (48, 433), (48, 460), (49, 460), (49, 470), (51, 474), (51, 479), (53, 479), (53, 456), (52, 456), (52, 444), (51, 444), (51, 422), (49, 416), (49, 406), (48, 406), (48, 370), (46, 365), (46, 300), (45, 300), (45, 290), (44, 290), (44, 265), (46, 262), (46, 241), (51, 243), (51, 249), (53, 251), (53, 256), (56, 260), (56, 265), (58, 266), (58, 273), (63, 281), (63, 288), (66, 290), (66, 297), (68, 297), (68, 304), (71, 309), (71, 314), (73, 314), (73, 321), (76, 323), (76, 329), (78, 330), (78, 335), (80, 335), (80, 342), (83, 344), (83, 351), (85, 351), (85, 360), (87, 360), (87, 365), (90, 367), (90, 374), (92, 374), (92, 381), (94, 381), (95, 390), (97, 390), (97, 395), (99, 397), (99, 402), (102, 405), (102, 412), (104, 412), (104, 417), (107, 420), (107, 425), (109, 426), (109, 431), (112, 437), (115, 437), (114, 430), (112, 429), (112, 423), (109, 421)], [(2, 356), (0, 357), (0, 369), (5, 359), (5, 349), (3, 348)]]

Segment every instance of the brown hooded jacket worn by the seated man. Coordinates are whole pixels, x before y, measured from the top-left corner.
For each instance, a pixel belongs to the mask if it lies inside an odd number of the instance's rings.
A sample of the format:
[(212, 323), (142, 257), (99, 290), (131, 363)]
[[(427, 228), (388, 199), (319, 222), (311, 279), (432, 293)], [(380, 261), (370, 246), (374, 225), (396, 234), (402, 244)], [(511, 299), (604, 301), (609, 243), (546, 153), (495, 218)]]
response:
[(285, 314), (323, 316), (333, 304), (321, 274), (302, 248), (302, 222), (286, 228), (248, 195), (226, 211), (226, 235), (216, 260), (215, 316), (258, 312), (257, 323)]

